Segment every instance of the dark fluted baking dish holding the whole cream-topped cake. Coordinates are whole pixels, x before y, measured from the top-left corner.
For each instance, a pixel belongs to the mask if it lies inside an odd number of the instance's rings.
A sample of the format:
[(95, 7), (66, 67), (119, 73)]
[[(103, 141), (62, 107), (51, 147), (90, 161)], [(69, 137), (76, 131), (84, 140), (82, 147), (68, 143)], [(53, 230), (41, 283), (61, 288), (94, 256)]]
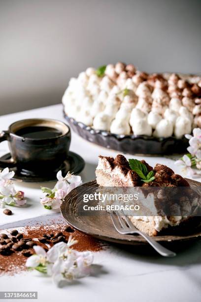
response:
[(64, 113), (71, 129), (85, 140), (129, 154), (173, 154), (184, 153), (189, 146), (185, 137), (177, 139), (173, 136), (156, 138), (147, 135), (117, 135), (107, 131), (94, 130)]

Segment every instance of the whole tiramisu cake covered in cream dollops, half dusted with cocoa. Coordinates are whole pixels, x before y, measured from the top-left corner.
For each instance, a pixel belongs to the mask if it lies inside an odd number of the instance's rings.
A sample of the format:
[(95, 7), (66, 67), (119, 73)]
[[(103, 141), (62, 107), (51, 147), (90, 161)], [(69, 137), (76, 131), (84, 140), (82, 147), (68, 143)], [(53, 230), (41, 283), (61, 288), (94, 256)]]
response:
[(201, 127), (201, 76), (107, 64), (72, 77), (62, 102), (69, 118), (94, 130), (181, 138)]

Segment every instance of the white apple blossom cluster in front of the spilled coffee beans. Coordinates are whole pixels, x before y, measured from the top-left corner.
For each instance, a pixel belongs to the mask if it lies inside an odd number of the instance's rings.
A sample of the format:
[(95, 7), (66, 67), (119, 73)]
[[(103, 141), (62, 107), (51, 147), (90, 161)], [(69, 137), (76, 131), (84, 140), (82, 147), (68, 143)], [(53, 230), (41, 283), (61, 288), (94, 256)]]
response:
[(51, 275), (53, 282), (60, 286), (61, 282), (88, 276), (91, 272), (93, 254), (90, 251), (78, 252), (71, 249), (77, 243), (72, 236), (68, 242), (59, 242), (46, 253), (40, 246), (34, 246), (35, 255), (28, 258), (27, 267)]

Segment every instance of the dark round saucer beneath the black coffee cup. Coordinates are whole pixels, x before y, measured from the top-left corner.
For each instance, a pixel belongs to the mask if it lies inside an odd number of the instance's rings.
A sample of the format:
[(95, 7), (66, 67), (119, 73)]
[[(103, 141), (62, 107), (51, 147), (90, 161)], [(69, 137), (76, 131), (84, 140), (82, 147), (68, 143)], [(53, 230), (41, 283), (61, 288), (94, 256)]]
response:
[[(7, 154), (1, 156), (0, 160), (5, 160), (5, 159), (7, 160), (7, 159), (10, 159), (10, 157), (11, 157), (10, 153), (7, 153)], [(65, 176), (68, 171), (73, 174), (79, 174), (84, 169), (84, 166), (85, 166), (84, 159), (80, 155), (69, 151), (67, 159), (63, 162), (63, 164), (58, 169), (58, 171), (62, 170), (63, 176)], [(2, 169), (3, 169), (3, 167), (0, 166), (0, 170), (2, 170)], [(48, 171), (47, 174), (45, 174), (45, 175), (42, 175), (42, 174), (38, 175), (38, 174), (34, 174), (34, 172), (32, 172), (32, 171), (28, 171), (23, 168), (19, 169), (16, 166), (10, 168), (9, 170), (15, 172), (13, 179), (16, 181), (23, 181), (23, 182), (29, 182), (29, 183), (57, 181), (56, 175), (57, 175), (58, 171), (57, 172), (54, 171), (52, 173), (50, 173)]]

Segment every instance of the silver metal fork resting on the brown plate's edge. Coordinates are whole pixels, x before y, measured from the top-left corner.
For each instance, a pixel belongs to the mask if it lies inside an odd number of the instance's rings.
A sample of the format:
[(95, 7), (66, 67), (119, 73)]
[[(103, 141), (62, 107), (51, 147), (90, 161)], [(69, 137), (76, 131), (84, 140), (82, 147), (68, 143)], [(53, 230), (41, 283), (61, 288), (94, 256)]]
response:
[[(114, 215), (114, 213), (116, 215)], [(124, 216), (124, 219), (122, 218)], [(160, 243), (156, 242), (153, 238), (151, 238), (149, 235), (144, 234), (140, 230), (138, 230), (130, 219), (126, 217), (123, 213), (120, 211), (110, 212), (110, 217), (113, 222), (114, 227), (116, 230), (121, 234), (139, 234), (141, 235), (146, 241), (162, 256), (164, 257), (174, 257), (176, 254), (167, 248), (163, 247)]]

